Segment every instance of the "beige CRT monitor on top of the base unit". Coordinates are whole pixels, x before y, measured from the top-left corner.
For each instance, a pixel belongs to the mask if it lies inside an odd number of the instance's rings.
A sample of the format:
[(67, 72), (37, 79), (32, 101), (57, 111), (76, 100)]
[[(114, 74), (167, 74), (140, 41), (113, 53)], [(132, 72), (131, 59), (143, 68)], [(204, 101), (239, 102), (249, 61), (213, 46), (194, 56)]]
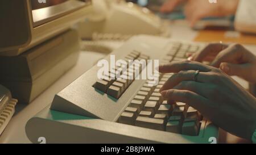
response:
[(0, 56), (18, 56), (67, 30), (88, 12), (91, 0), (0, 1)]

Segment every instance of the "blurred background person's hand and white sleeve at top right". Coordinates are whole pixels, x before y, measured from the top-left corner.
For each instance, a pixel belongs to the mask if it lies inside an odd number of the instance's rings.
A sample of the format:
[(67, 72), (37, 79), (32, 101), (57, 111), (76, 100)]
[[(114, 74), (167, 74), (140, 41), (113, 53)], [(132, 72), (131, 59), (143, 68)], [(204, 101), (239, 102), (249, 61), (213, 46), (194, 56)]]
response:
[(210, 1), (212, 0), (167, 0), (160, 11), (172, 12), (175, 7), (185, 3), (184, 14), (191, 27), (202, 18), (235, 15), (236, 30), (256, 33), (255, 0), (217, 0), (217, 3)]

